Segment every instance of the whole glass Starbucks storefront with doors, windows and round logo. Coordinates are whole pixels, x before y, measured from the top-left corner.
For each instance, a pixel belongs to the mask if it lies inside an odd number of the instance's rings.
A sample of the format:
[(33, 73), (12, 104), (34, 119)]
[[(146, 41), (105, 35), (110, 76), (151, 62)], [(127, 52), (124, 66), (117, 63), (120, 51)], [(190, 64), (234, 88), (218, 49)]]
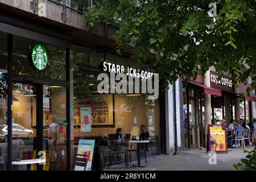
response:
[[(80, 139), (96, 139), (102, 163), (108, 165), (106, 139), (118, 150), (129, 149), (128, 141), (140, 134), (141, 125), (150, 135), (147, 155), (162, 153), (159, 98), (97, 92), (99, 64), (122, 64), (127, 58), (57, 35), (0, 23), (0, 158), (5, 164), (0, 164), (0, 171), (27, 170), (26, 165), (12, 163), (42, 155), (46, 163), (31, 164), (31, 170), (69, 170)], [(81, 117), (85, 108), (91, 116), (86, 129)], [(120, 129), (123, 141), (117, 144)], [(135, 158), (134, 152), (131, 159)]]

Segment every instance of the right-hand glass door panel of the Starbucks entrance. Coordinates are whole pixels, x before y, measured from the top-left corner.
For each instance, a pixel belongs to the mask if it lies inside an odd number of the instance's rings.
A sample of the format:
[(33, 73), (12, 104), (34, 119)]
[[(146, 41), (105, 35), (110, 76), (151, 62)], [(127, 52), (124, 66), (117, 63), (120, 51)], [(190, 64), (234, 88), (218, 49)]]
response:
[(66, 88), (43, 85), (43, 148), (50, 170), (67, 169)]

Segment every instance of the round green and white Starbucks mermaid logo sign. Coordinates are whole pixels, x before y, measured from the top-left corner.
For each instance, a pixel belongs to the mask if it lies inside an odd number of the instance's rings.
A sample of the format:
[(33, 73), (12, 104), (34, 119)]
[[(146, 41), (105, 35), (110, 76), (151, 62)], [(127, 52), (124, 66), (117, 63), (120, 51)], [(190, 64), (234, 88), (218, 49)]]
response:
[(46, 53), (46, 49), (42, 45), (37, 44), (33, 47), (32, 61), (36, 69), (42, 70), (46, 68), (48, 63), (48, 56)]

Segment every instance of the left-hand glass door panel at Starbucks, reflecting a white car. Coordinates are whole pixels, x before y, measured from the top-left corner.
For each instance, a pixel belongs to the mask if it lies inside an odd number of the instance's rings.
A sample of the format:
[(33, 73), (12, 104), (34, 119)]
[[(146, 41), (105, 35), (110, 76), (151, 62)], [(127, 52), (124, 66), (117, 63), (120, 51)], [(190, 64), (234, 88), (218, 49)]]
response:
[[(13, 83), (13, 160), (28, 160), (36, 156), (37, 100), (36, 85)], [(13, 165), (12, 168), (27, 170), (26, 165)]]

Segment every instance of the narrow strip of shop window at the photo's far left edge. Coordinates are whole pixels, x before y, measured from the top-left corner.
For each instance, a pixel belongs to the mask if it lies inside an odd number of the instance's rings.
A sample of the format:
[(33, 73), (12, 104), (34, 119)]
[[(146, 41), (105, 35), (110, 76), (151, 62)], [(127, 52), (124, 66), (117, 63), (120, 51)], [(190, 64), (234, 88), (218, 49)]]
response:
[(0, 171), (7, 167), (7, 34), (0, 32)]

